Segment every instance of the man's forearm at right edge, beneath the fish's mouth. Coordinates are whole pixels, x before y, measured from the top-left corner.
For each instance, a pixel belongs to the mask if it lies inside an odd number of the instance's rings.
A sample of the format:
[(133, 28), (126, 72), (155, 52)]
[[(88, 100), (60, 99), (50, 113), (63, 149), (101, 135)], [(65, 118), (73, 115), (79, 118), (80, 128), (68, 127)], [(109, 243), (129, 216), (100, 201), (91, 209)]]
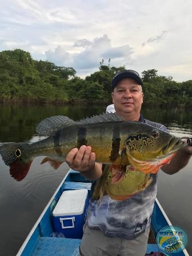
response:
[(192, 146), (184, 146), (177, 151), (171, 162), (163, 165), (161, 170), (167, 174), (174, 174), (187, 165), (192, 155)]

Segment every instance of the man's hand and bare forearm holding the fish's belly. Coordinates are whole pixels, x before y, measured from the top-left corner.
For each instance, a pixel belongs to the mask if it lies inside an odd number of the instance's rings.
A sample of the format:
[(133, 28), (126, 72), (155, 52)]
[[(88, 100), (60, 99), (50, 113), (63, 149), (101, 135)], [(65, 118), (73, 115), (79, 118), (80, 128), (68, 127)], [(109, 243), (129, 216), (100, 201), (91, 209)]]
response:
[(95, 163), (95, 153), (91, 152), (90, 146), (72, 149), (66, 156), (66, 162), (71, 169), (80, 171), (87, 179), (94, 181), (102, 175), (102, 164)]

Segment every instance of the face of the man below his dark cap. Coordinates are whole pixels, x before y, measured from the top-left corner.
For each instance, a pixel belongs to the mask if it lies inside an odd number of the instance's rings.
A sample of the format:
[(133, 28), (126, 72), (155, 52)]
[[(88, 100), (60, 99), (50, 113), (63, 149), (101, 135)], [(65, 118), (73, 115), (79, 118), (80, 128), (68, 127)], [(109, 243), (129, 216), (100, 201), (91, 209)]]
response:
[(113, 93), (111, 93), (115, 111), (119, 115), (131, 113), (139, 115), (143, 103), (143, 93), (141, 85), (131, 78), (122, 79), (117, 83)]

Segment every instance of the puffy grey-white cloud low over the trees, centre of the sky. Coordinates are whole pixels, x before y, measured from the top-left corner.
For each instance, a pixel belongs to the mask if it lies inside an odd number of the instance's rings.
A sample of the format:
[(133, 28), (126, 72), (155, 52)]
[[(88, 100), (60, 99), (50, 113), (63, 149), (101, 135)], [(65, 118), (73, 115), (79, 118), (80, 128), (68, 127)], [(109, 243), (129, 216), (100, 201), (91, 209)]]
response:
[(112, 47), (111, 40), (107, 35), (99, 38), (94, 38), (93, 41), (87, 39), (80, 39), (74, 42), (74, 47), (79, 47), (79, 52), (71, 53), (65, 50), (65, 47), (58, 46), (54, 50), (45, 52), (47, 59), (51, 62), (61, 66), (73, 66), (78, 70), (92, 70), (98, 69), (99, 62), (102, 59), (109, 58), (113, 63), (121, 65), (122, 62), (127, 63), (127, 58), (131, 59), (133, 50), (129, 45)]

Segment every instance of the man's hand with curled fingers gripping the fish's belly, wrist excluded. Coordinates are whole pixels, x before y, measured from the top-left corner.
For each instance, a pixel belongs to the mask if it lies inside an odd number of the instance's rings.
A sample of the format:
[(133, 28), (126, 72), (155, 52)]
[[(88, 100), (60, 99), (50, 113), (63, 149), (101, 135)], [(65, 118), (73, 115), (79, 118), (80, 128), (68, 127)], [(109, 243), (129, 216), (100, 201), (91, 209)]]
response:
[(66, 156), (69, 167), (75, 171), (88, 171), (95, 166), (95, 153), (91, 152), (90, 146), (81, 146), (72, 149)]

